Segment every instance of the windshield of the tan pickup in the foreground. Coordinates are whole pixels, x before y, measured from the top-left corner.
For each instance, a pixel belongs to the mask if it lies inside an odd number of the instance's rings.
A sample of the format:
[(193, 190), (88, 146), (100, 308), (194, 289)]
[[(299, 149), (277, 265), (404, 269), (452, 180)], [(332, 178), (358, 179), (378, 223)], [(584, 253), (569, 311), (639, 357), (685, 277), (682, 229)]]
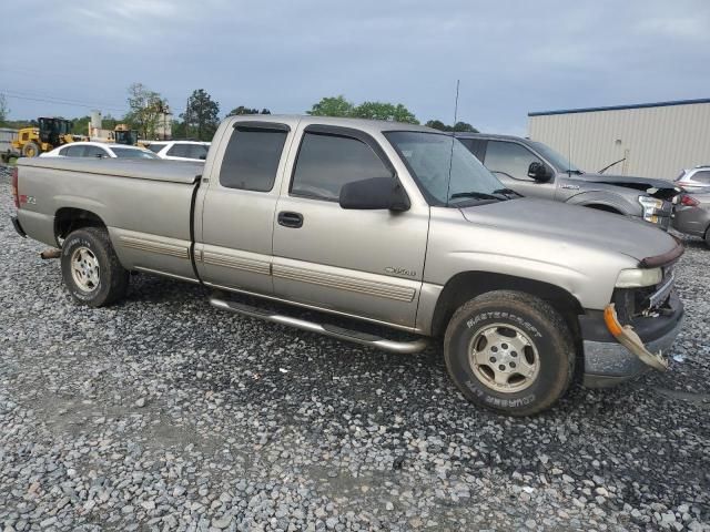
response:
[(447, 205), (470, 203), (471, 200), (507, 200), (500, 195), (505, 187), (498, 178), (450, 135), (390, 131), (385, 136), (407, 163), (429, 203)]

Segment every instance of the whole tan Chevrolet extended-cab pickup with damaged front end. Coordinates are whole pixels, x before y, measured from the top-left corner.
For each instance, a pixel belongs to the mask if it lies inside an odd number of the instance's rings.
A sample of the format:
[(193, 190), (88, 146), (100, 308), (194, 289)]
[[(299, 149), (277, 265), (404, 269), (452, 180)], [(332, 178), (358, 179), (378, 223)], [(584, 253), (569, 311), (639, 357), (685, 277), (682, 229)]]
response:
[(665, 369), (681, 326), (676, 239), (519, 197), (428, 127), (235, 116), (204, 166), (28, 158), (12, 186), (17, 231), (54, 248), (79, 304), (119, 301), (143, 272), (389, 351), (439, 338), (462, 393), (510, 415), (549, 408), (576, 375)]

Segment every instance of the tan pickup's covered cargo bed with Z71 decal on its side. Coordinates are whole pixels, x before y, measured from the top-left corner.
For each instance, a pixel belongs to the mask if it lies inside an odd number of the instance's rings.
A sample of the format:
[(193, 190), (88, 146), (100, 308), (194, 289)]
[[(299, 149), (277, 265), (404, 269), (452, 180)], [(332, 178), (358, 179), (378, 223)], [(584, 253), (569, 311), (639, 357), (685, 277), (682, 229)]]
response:
[(202, 163), (22, 158), (19, 221), (32, 238), (57, 245), (65, 216), (93, 213), (124, 267), (193, 279), (192, 200)]

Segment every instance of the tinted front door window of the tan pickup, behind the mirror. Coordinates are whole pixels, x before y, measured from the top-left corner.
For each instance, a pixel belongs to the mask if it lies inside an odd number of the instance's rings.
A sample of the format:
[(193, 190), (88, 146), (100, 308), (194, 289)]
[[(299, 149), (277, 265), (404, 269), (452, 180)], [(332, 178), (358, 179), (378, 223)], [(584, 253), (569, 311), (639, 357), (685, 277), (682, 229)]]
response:
[(392, 172), (364, 142), (349, 136), (306, 132), (291, 193), (337, 202), (346, 183), (389, 175)]

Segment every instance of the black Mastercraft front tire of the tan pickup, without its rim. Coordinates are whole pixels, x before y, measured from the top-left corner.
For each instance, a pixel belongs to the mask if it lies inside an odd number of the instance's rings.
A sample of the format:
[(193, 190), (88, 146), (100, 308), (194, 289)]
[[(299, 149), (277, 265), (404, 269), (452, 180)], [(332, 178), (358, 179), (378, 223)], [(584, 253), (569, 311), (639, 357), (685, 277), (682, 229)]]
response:
[[(516, 327), (537, 350), (538, 371), (524, 390), (495, 390), (471, 369), (471, 341), (495, 324)], [(496, 290), (454, 313), (444, 337), (444, 358), (449, 376), (469, 401), (509, 416), (530, 416), (548, 409), (567, 391), (576, 356), (565, 319), (548, 303), (521, 291)]]

